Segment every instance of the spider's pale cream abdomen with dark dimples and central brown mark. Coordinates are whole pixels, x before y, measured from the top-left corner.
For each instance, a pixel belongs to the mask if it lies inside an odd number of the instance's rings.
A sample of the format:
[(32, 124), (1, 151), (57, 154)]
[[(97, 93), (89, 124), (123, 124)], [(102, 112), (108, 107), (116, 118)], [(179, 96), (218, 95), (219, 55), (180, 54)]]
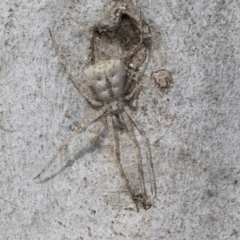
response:
[(126, 69), (120, 60), (99, 61), (87, 67), (84, 75), (87, 85), (103, 102), (119, 98), (123, 93)]

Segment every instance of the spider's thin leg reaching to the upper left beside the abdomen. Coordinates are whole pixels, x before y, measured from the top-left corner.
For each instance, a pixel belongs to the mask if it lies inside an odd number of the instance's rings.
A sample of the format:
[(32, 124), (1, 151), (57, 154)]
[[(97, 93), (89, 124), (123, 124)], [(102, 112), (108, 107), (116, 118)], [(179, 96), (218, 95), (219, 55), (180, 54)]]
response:
[(72, 83), (74, 84), (74, 86), (81, 91), (81, 93), (83, 94), (83, 96), (84, 96), (84, 97), (87, 99), (87, 101), (90, 102), (93, 106), (95, 106), (95, 107), (100, 107), (100, 106), (102, 106), (102, 105), (103, 105), (102, 102), (97, 101), (96, 99), (92, 99), (92, 98), (88, 95), (87, 90), (83, 87), (83, 85), (82, 85), (80, 82), (78, 82), (78, 81), (73, 77), (72, 73), (68, 70), (68, 68), (66, 67), (66, 65), (63, 63), (63, 61), (62, 61), (62, 59), (61, 59), (61, 57), (60, 57), (60, 54), (59, 54), (59, 52), (58, 52), (58, 49), (57, 49), (57, 44), (56, 44), (56, 42), (55, 42), (55, 40), (54, 40), (54, 38), (53, 38), (53, 36), (52, 36), (52, 33), (51, 33), (50, 29), (48, 29), (48, 30), (49, 30), (49, 34), (50, 34), (51, 40), (52, 40), (52, 42), (53, 42), (54, 50), (55, 50), (55, 52), (56, 52), (56, 54), (57, 54), (58, 61), (59, 61), (59, 63), (61, 64), (61, 66), (63, 67), (63, 69), (65, 70), (65, 72), (67, 73), (68, 77), (71, 79), (71, 81), (72, 81)]

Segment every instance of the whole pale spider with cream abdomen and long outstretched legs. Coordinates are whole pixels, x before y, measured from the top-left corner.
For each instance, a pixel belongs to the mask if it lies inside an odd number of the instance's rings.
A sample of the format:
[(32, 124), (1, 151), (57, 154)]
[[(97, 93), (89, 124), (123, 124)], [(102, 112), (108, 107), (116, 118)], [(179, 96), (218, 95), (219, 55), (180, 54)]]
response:
[[(111, 138), (111, 150), (114, 153), (113, 154), (114, 160), (116, 162), (116, 165), (119, 169), (119, 172), (122, 178), (125, 181), (125, 185), (128, 189), (130, 197), (135, 203), (137, 211), (139, 211), (139, 205), (143, 206), (145, 210), (149, 209), (151, 207), (151, 203), (149, 201), (149, 198), (146, 192), (144, 176), (143, 176), (143, 168), (142, 168), (142, 162), (141, 162), (141, 151), (140, 151), (140, 147), (139, 147), (136, 135), (134, 133), (134, 128), (136, 128), (139, 131), (139, 133), (143, 136), (143, 139), (144, 139), (146, 159), (148, 163), (148, 170), (150, 173), (151, 192), (153, 194), (153, 191), (154, 191), (153, 176), (154, 175), (153, 175), (153, 169), (151, 164), (150, 149), (148, 146), (148, 139), (147, 139), (146, 132), (137, 121), (137, 118), (134, 116), (134, 113), (132, 112), (132, 110), (129, 108), (131, 101), (137, 98), (137, 95), (140, 91), (138, 82), (136, 80), (136, 75), (133, 73), (132, 70), (129, 70), (129, 68), (125, 64), (126, 61), (124, 62), (122, 59), (111, 59), (111, 58), (101, 59), (101, 57), (99, 56), (93, 57), (93, 55), (91, 55), (91, 59), (96, 58), (97, 60), (95, 59), (93, 63), (90, 63), (89, 66), (85, 68), (84, 79), (85, 79), (86, 86), (84, 86), (73, 77), (71, 72), (63, 63), (60, 57), (60, 54), (58, 52), (56, 42), (52, 36), (50, 29), (49, 29), (49, 34), (50, 34), (56, 55), (58, 57), (58, 61), (63, 67), (63, 69), (65, 70), (65, 72), (67, 73), (68, 77), (71, 79), (72, 83), (80, 90), (83, 96), (94, 108), (100, 108), (100, 110), (94, 116), (92, 116), (89, 120), (87, 120), (86, 122), (84, 122), (83, 124), (81, 124), (76, 128), (76, 130), (72, 133), (72, 135), (70, 135), (66, 139), (66, 141), (60, 146), (57, 153), (52, 157), (52, 159), (48, 162), (48, 164), (40, 171), (40, 173), (35, 178), (39, 178), (42, 175), (42, 173), (44, 173), (53, 164), (53, 162), (57, 159), (59, 153), (65, 147), (68, 146), (70, 141), (77, 134), (84, 131), (89, 125), (99, 120), (100, 118), (106, 117), (109, 135)], [(139, 49), (139, 46), (137, 47)], [(96, 50), (96, 47), (95, 47), (95, 50)], [(132, 54), (130, 55), (132, 57)], [(129, 55), (127, 56), (129, 59)], [(89, 94), (88, 89), (92, 91), (94, 97), (92, 97)], [(124, 169), (118, 158), (114, 127), (118, 127), (119, 124), (124, 125), (127, 128), (127, 131), (136, 149), (138, 178), (141, 185), (140, 192), (138, 193), (134, 193), (133, 190), (131, 189), (129, 180), (126, 177)]]

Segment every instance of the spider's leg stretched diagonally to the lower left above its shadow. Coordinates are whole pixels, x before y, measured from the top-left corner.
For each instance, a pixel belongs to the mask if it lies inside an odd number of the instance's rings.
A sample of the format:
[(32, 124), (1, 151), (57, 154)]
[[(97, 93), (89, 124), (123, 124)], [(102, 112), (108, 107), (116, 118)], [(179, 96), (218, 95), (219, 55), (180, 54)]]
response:
[(68, 137), (68, 139), (64, 142), (64, 144), (58, 149), (57, 153), (55, 153), (55, 155), (52, 157), (52, 159), (48, 162), (48, 164), (41, 170), (41, 172), (34, 178), (39, 178), (41, 176), (42, 173), (44, 173), (52, 164), (53, 162), (56, 160), (57, 156), (59, 155), (59, 153), (69, 144), (69, 142), (81, 131), (83, 131), (84, 129), (86, 129), (90, 124), (92, 124), (93, 122), (95, 122), (97, 119), (99, 119), (104, 113), (106, 112), (105, 109), (99, 111), (95, 116), (93, 116), (91, 119), (89, 119), (88, 121), (86, 121), (85, 123), (81, 124), (80, 126), (78, 126), (78, 128), (72, 133), (72, 135), (70, 135)]

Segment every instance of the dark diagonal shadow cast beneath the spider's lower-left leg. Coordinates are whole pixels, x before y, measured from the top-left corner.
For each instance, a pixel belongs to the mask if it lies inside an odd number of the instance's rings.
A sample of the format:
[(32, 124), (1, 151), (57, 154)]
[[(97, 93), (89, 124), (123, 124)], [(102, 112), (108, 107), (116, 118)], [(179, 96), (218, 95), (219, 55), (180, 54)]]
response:
[(104, 141), (104, 138), (107, 136), (107, 127), (105, 126), (100, 134), (98, 134), (98, 136), (94, 139), (94, 141), (87, 147), (81, 149), (73, 158), (73, 160), (68, 160), (66, 162), (66, 164), (60, 169), (58, 170), (56, 173), (52, 174), (51, 176), (49, 177), (46, 177), (44, 178), (43, 180), (39, 180), (37, 183), (40, 184), (40, 183), (45, 183), (49, 180), (52, 180), (54, 179), (56, 176), (58, 176), (59, 174), (61, 174), (62, 172), (64, 172), (68, 167), (72, 167), (73, 164), (79, 160), (80, 158), (84, 157), (85, 154), (87, 153), (92, 153), (94, 150), (96, 149), (100, 149), (101, 147), (101, 143)]

